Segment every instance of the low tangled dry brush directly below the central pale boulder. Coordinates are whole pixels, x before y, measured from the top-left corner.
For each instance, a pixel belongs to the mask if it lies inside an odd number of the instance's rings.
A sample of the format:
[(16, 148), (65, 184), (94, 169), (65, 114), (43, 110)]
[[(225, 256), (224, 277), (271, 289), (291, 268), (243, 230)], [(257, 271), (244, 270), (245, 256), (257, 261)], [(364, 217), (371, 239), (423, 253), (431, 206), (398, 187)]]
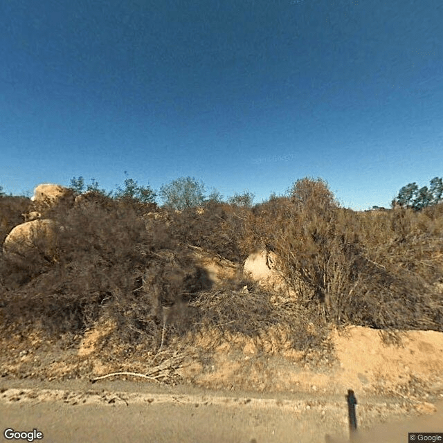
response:
[[(243, 282), (253, 287), (252, 282)], [(276, 353), (291, 347), (304, 352), (305, 357), (312, 356), (313, 351), (329, 349), (328, 327), (318, 312), (311, 313), (311, 307), (304, 309), (291, 302), (280, 304), (269, 291), (205, 291), (190, 305), (195, 309), (191, 328), (195, 334), (188, 341), (199, 345), (199, 333), (203, 332), (206, 350), (215, 351), (223, 340), (234, 345), (232, 338), (242, 336), (252, 338), (260, 352), (269, 347), (270, 341)], [(280, 331), (279, 337), (275, 337), (276, 331)], [(240, 347), (243, 343), (239, 341)]]

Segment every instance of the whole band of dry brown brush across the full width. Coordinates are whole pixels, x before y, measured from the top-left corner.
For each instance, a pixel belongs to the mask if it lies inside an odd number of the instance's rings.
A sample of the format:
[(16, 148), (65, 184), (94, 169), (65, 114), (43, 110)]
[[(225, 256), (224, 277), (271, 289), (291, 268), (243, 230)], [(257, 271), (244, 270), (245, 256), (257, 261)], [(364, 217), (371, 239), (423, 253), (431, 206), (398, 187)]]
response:
[[(443, 330), (443, 204), (354, 213), (309, 179), (290, 195), (253, 208), (212, 203), (175, 213), (96, 193), (47, 209), (45, 217), (63, 226), (56, 260), (1, 257), (2, 334), (35, 327), (82, 334), (106, 319), (117, 325), (109, 340), (155, 352), (185, 347), (190, 332), (208, 328), (260, 341), (280, 327), (294, 349), (308, 352), (327, 343), (333, 324)], [(0, 197), (2, 241), (28, 205)], [(153, 211), (159, 217), (146, 216)], [(295, 295), (242, 275), (211, 288), (190, 244), (237, 264), (262, 245), (277, 255)]]

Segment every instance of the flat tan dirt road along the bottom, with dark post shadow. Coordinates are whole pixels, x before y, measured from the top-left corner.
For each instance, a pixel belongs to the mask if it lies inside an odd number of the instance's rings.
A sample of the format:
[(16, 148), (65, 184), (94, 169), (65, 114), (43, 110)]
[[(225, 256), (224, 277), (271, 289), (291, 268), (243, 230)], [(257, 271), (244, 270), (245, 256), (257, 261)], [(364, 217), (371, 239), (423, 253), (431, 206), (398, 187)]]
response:
[[(154, 387), (129, 381), (92, 386), (70, 381), (48, 389), (51, 384), (3, 381), (1, 431), (35, 428), (44, 434), (44, 442), (348, 441), (346, 402), (337, 396), (227, 395), (191, 386)], [(442, 402), (428, 404), (427, 410), (421, 410), (422, 417), (414, 419), (419, 410), (408, 411), (399, 399), (358, 400), (361, 442), (406, 442), (408, 432), (443, 431)], [(401, 421), (404, 417), (409, 419)]]

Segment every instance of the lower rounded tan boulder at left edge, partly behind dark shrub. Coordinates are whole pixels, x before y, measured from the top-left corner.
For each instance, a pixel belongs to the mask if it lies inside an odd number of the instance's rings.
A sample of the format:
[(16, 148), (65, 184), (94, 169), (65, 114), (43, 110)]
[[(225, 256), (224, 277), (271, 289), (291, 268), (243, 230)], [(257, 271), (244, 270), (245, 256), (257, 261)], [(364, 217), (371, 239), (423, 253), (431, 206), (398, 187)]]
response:
[(12, 228), (3, 242), (6, 257), (35, 258), (40, 255), (47, 260), (55, 257), (56, 224), (53, 220), (33, 220)]

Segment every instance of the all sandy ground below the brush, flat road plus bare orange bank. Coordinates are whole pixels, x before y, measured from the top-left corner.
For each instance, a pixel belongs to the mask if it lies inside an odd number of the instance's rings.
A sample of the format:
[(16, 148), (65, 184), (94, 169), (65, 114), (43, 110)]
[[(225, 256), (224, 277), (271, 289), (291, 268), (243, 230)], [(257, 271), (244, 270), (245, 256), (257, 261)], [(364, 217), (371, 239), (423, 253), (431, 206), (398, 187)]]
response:
[[(102, 336), (96, 334), (97, 340)], [(224, 347), (210, 370), (181, 368), (192, 383), (178, 386), (132, 377), (69, 379), (69, 368), (84, 359), (96, 359), (87, 366), (93, 375), (109, 372), (97, 363), (98, 341), (88, 343), (94, 349), (89, 354), (84, 339), (76, 355), (10, 349), (1, 359), (0, 429), (36, 428), (45, 442), (345, 442), (345, 395), (352, 388), (363, 442), (406, 442), (408, 432), (443, 432), (443, 334), (406, 332), (400, 345), (386, 345), (377, 331), (352, 327), (332, 340), (331, 368), (307, 370), (289, 356), (264, 359), (250, 346), (243, 352)], [(30, 362), (39, 380), (26, 373)]]

